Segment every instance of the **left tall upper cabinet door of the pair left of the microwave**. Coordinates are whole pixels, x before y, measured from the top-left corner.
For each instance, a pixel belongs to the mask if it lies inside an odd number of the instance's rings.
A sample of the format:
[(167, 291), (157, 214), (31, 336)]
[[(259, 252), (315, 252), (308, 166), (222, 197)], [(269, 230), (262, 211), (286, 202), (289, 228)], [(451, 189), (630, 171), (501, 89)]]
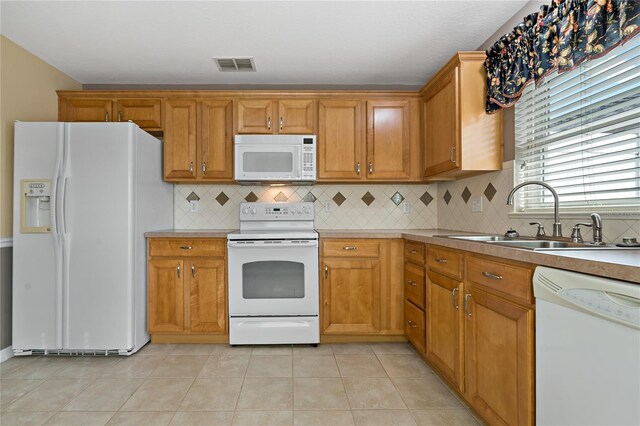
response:
[(164, 120), (164, 177), (195, 179), (196, 101), (167, 99)]

